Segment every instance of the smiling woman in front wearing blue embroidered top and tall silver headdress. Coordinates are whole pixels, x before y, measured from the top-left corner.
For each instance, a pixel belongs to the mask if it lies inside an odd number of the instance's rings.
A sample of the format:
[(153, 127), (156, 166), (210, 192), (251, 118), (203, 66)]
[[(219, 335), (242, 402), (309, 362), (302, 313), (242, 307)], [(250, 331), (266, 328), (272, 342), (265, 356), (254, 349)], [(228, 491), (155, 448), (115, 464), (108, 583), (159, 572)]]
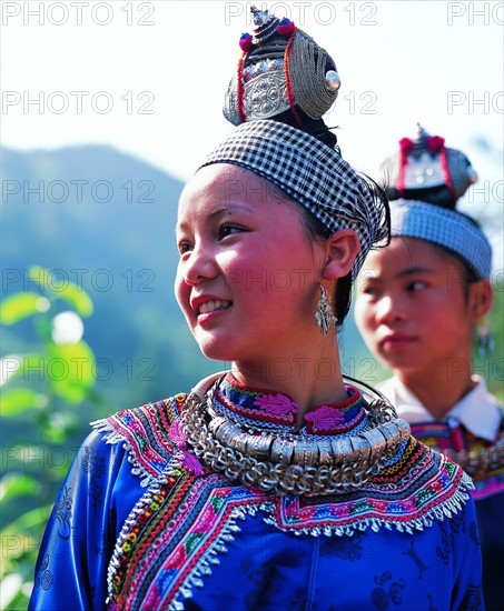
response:
[(226, 101), (238, 127), (177, 223), (178, 302), (231, 370), (96, 424), (31, 608), (481, 609), (468, 478), (342, 378), (336, 323), (388, 227), (320, 119), (336, 68), (254, 12)]

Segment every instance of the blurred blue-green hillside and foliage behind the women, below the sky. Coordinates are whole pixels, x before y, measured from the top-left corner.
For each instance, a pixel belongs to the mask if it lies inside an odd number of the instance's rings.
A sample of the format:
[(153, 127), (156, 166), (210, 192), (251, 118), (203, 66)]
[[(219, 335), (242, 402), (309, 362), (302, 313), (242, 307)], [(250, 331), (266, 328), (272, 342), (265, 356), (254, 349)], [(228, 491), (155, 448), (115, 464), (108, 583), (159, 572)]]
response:
[[(0, 605), (26, 609), (89, 422), (187, 391), (223, 363), (200, 354), (172, 294), (179, 181), (109, 147), (3, 150), (2, 177)], [(494, 232), (502, 222), (492, 214)], [(497, 268), (495, 348), (474, 363), (503, 399)], [(339, 340), (344, 372), (370, 384), (387, 375), (352, 315)]]

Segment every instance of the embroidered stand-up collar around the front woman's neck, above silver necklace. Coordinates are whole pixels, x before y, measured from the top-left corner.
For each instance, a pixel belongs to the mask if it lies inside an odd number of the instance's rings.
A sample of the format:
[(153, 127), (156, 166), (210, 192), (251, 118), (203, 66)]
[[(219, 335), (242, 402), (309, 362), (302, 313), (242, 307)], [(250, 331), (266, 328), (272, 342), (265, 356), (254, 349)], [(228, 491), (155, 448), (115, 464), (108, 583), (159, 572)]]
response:
[[(348, 398), (340, 403), (324, 403), (305, 415), (299, 434), (334, 435), (358, 432), (366, 424), (364, 399), (359, 390), (346, 385)], [(296, 432), (299, 405), (279, 392), (246, 388), (227, 373), (213, 399), (218, 411), (256, 431)]]

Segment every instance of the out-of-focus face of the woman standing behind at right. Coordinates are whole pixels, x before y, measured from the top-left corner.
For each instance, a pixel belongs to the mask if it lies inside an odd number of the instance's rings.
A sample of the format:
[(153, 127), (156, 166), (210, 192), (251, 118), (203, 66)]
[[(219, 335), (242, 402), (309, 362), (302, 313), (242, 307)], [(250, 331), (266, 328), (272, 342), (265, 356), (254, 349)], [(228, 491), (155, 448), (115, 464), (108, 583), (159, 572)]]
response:
[(449, 375), (471, 353), (472, 301), (455, 258), (423, 240), (394, 238), (366, 259), (355, 319), (369, 350), (387, 367)]

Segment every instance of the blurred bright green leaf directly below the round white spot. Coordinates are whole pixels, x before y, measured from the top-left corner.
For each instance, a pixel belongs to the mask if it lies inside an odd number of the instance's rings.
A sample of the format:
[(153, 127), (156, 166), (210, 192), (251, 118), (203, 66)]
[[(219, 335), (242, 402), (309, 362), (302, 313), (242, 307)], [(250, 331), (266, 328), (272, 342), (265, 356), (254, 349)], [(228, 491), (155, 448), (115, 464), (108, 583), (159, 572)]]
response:
[(47, 374), (58, 397), (79, 403), (95, 384), (95, 354), (83, 341), (55, 343), (48, 349)]

